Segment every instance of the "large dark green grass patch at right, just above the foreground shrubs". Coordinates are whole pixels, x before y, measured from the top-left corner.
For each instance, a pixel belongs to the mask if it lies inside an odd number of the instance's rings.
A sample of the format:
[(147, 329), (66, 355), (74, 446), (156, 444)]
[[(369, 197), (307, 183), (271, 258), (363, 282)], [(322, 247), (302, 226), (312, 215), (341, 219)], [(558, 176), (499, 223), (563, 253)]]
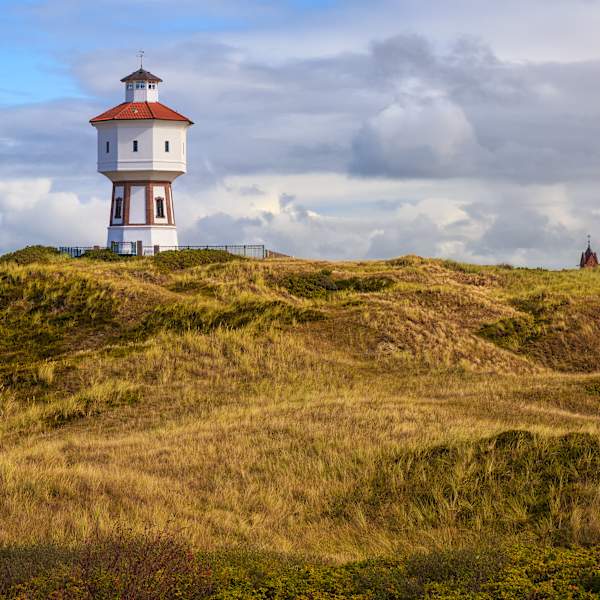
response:
[(374, 472), (332, 502), (346, 519), (405, 527), (533, 532), (555, 543), (600, 541), (600, 439), (506, 431), (488, 439), (381, 457)]

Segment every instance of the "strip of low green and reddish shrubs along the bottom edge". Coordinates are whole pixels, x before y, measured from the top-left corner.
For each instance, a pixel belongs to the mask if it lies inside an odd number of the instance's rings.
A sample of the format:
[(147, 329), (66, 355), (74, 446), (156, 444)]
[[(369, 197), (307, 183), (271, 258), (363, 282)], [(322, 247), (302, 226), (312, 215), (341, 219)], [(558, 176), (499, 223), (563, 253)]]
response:
[(593, 599), (600, 548), (481, 546), (332, 565), (275, 553), (198, 555), (180, 538), (94, 536), (81, 549), (0, 547), (0, 598)]

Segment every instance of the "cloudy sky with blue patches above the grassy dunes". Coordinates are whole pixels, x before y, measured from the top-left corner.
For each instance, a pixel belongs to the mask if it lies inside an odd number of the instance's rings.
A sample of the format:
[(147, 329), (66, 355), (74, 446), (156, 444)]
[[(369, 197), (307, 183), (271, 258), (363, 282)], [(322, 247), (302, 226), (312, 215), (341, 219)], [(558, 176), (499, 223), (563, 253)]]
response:
[(188, 115), (180, 242), (572, 268), (600, 249), (600, 0), (0, 0), (0, 252), (103, 244), (89, 119)]

